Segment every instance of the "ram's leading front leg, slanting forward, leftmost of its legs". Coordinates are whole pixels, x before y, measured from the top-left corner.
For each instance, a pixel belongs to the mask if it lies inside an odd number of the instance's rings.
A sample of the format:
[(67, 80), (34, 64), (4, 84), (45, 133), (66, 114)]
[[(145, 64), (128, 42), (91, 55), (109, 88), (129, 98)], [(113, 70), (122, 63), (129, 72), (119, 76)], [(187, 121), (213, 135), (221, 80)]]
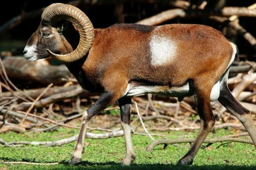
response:
[(75, 149), (71, 156), (71, 164), (80, 163), (82, 160), (82, 152), (84, 149), (84, 138), (86, 133), (86, 128), (88, 126), (88, 121), (95, 116), (95, 114), (101, 112), (108, 106), (110, 106), (114, 101), (118, 99), (118, 95), (113, 92), (104, 92), (100, 99), (98, 99), (94, 105), (90, 106), (87, 111), (84, 112), (82, 117), (82, 123), (80, 127), (80, 132), (75, 145)]

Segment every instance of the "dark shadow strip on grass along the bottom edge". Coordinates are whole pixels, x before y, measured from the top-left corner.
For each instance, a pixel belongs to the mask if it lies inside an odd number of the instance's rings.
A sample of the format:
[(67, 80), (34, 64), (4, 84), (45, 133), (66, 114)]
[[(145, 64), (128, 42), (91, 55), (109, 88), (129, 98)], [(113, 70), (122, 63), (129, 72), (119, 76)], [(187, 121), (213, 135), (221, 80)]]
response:
[[(15, 161), (1, 157), (1, 160)], [(22, 159), (24, 162), (31, 162), (31, 159)], [(21, 164), (20, 164), (21, 165)], [(91, 163), (83, 161), (70, 165), (67, 161), (61, 161), (56, 165), (22, 165), (26, 170), (256, 170), (256, 165), (234, 166), (234, 165), (175, 165), (175, 164), (132, 164), (122, 166), (121, 163), (105, 162)], [(22, 168), (20, 167), (20, 168)], [(25, 168), (26, 167), (26, 168)]]

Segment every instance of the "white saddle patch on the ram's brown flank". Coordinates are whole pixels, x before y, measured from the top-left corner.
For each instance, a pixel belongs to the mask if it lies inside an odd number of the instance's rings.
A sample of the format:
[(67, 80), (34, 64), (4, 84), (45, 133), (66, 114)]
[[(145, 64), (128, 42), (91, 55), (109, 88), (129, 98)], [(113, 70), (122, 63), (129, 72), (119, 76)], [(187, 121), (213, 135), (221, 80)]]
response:
[(176, 53), (176, 44), (169, 38), (153, 35), (149, 45), (152, 65), (162, 65), (174, 59)]

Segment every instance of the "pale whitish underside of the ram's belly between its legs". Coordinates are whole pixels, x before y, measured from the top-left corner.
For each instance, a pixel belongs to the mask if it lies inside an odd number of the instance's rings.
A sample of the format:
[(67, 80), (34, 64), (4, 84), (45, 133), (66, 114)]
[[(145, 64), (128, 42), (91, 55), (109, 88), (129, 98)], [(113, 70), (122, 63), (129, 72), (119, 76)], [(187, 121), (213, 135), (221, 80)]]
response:
[(141, 96), (147, 93), (159, 94), (171, 97), (181, 97), (190, 94), (189, 83), (181, 87), (169, 87), (168, 85), (139, 85), (131, 87), (131, 84), (127, 86), (126, 94), (124, 96), (134, 97)]

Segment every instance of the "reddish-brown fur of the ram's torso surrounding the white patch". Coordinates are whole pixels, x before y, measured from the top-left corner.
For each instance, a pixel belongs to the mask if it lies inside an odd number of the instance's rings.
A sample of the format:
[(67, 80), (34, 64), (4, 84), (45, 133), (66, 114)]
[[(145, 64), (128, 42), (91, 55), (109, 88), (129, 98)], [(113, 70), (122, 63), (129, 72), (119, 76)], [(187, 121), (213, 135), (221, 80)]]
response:
[[(152, 66), (148, 41), (151, 35), (168, 37), (177, 43), (176, 59)], [(202, 25), (172, 24), (152, 27), (148, 32), (112, 26), (95, 29), (95, 41), (83, 70), (107, 91), (124, 92), (132, 80), (156, 85), (180, 86), (205, 77), (212, 85), (226, 71), (233, 49), (219, 31)], [(203, 82), (202, 82), (203, 83)]]

